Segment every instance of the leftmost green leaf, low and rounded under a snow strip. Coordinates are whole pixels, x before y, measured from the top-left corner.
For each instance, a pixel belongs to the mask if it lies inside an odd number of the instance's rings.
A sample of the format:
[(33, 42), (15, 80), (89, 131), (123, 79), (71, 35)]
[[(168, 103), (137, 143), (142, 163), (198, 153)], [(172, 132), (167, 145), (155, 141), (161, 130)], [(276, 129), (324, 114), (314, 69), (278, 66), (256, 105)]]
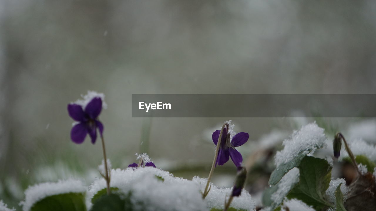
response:
[(47, 196), (36, 202), (31, 211), (86, 211), (85, 197), (82, 193), (64, 193)]

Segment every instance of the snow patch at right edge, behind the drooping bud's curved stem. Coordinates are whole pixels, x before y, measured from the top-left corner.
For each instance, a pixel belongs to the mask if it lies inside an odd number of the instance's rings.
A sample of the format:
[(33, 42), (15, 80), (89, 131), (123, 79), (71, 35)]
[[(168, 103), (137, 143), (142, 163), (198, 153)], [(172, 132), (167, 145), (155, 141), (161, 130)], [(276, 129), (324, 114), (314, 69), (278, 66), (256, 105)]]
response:
[[(354, 155), (365, 155), (372, 161), (376, 161), (376, 146), (373, 144), (368, 144), (362, 139), (350, 140), (348, 144)], [(342, 147), (340, 159), (342, 160), (345, 157), (349, 157), (349, 154)]]

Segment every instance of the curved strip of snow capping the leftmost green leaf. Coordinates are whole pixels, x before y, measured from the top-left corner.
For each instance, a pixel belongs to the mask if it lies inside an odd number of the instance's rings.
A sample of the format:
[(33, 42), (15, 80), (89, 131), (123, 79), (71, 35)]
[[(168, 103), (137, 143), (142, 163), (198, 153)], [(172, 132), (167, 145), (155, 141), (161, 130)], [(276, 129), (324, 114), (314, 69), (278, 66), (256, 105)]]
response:
[(25, 200), (20, 202), (23, 211), (30, 208), (41, 199), (62, 193), (84, 193), (86, 191), (82, 181), (76, 179), (59, 180), (58, 182), (45, 182), (29, 186), (25, 191)]

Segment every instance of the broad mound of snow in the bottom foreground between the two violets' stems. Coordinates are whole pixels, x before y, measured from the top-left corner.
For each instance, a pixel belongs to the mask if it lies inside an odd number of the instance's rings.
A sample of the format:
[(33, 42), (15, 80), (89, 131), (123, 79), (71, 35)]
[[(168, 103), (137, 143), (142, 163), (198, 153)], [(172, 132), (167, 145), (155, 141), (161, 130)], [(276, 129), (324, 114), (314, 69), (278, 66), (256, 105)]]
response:
[[(161, 176), (164, 181), (156, 178)], [(231, 188), (218, 188), (212, 185), (205, 200), (202, 200), (201, 191), (204, 189), (206, 179), (195, 177), (193, 180), (174, 177), (169, 172), (158, 168), (128, 168), (125, 170), (113, 169), (111, 171), (111, 187), (117, 187), (127, 194), (132, 191), (133, 204), (142, 201), (148, 210), (163, 211), (191, 211), (209, 210), (212, 206), (223, 208), (226, 194), (229, 196)], [(91, 208), (91, 198), (97, 191), (106, 187), (103, 178), (97, 178), (86, 194), (86, 205)], [(247, 191), (233, 200), (233, 207), (253, 210), (255, 205)]]

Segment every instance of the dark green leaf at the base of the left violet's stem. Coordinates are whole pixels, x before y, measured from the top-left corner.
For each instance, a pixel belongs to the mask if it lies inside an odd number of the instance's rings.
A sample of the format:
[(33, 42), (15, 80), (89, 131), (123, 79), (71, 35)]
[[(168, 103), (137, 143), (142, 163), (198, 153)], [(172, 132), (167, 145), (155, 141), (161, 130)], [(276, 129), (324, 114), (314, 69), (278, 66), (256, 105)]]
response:
[[(126, 200), (123, 199), (119, 194), (111, 193), (109, 195), (105, 194), (99, 197), (93, 204), (91, 211), (124, 211), (126, 207)], [(131, 211), (132, 206), (130, 209)]]

